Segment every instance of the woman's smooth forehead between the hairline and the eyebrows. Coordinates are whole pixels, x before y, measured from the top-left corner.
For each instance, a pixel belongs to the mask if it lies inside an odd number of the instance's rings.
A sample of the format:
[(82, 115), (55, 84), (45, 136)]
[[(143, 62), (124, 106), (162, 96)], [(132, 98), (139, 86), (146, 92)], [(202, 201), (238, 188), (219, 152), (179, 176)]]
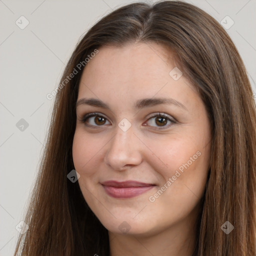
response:
[(186, 96), (191, 97), (194, 88), (182, 75), (173, 79), (173, 68), (175, 72), (171, 52), (156, 43), (104, 46), (86, 64), (78, 98), (93, 96), (131, 104), (131, 100), (157, 94), (187, 101)]

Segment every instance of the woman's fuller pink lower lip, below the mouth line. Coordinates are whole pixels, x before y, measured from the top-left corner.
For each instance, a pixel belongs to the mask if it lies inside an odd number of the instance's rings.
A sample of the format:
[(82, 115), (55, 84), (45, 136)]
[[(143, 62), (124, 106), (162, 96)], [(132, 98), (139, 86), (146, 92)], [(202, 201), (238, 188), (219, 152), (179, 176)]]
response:
[(113, 187), (104, 186), (105, 192), (114, 198), (131, 198), (142, 194), (154, 186), (139, 186), (139, 187)]

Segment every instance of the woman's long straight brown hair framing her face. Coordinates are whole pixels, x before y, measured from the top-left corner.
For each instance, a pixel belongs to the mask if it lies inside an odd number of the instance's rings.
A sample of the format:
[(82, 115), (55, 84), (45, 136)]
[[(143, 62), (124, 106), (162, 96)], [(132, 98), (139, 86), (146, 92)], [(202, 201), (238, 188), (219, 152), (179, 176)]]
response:
[[(244, 64), (221, 25), (182, 1), (132, 3), (100, 19), (79, 41), (61, 81), (104, 45), (155, 42), (173, 52), (197, 88), (212, 128), (208, 179), (197, 223), (197, 256), (255, 256), (256, 114)], [(85, 68), (86, 65), (84, 64)], [(77, 68), (76, 68), (77, 69)], [(15, 255), (109, 255), (108, 232), (86, 204), (74, 169), (75, 103), (83, 68), (59, 86), (43, 158)], [(234, 229), (221, 230), (229, 221)]]

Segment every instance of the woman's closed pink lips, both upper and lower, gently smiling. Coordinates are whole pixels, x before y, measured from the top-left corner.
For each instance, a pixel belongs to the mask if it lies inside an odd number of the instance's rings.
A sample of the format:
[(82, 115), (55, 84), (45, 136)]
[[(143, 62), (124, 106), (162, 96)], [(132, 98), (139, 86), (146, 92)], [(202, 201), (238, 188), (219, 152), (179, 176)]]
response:
[(155, 186), (155, 184), (152, 183), (144, 183), (135, 180), (121, 182), (108, 180), (102, 182), (101, 185), (105, 192), (114, 198), (131, 198), (140, 195)]

